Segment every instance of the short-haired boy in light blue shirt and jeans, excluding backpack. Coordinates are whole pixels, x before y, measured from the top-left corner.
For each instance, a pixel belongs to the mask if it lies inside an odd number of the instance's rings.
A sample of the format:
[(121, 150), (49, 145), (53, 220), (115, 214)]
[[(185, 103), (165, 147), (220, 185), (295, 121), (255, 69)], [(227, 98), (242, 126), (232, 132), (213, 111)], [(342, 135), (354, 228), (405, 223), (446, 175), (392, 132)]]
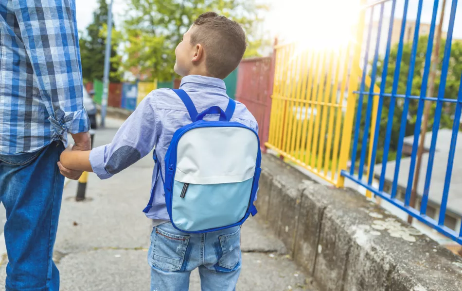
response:
[[(180, 88), (191, 97), (198, 112), (214, 105), (226, 109), (229, 97), (222, 79), (239, 65), (245, 50), (246, 37), (239, 24), (213, 12), (199, 16), (183, 35), (175, 49), (174, 69), (183, 77)], [(218, 120), (218, 117), (212, 115), (204, 119)], [(239, 102), (231, 121), (258, 132), (255, 118)], [(68, 168), (93, 171), (99, 178), (110, 178), (155, 147), (165, 177), (164, 157), (173, 134), (190, 123), (189, 114), (174, 91), (155, 90), (125, 121), (111, 144), (91, 152), (66, 150), (59, 167), (64, 174)], [(155, 179), (153, 175), (152, 185)], [(146, 214), (153, 222), (148, 253), (151, 290), (188, 290), (189, 276), (195, 268), (199, 268), (203, 291), (235, 290), (241, 270), (240, 227), (207, 234), (180, 232), (169, 222), (164, 195), (162, 181), (158, 179), (152, 208)]]

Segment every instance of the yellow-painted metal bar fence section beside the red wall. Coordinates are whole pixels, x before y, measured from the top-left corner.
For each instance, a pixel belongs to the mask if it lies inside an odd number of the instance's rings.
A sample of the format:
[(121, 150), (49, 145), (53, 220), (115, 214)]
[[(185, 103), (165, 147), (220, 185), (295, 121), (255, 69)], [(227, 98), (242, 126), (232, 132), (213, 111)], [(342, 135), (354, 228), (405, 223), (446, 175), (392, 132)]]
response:
[[(359, 63), (359, 53), (360, 45), (352, 44), (330, 50), (297, 43), (275, 46), (273, 105), (265, 146), (338, 187), (343, 186), (339, 174), (350, 151), (353, 88), (360, 72), (353, 64)], [(371, 79), (367, 77), (365, 83), (369, 86)], [(378, 90), (374, 85), (373, 92)], [(377, 97), (374, 102), (376, 109)]]

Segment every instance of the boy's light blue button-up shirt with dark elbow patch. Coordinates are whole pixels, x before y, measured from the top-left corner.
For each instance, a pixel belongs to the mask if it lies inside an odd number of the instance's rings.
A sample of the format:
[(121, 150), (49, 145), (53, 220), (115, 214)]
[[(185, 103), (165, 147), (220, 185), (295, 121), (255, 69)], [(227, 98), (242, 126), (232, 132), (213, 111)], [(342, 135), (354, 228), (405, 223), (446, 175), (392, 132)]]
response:
[[(229, 97), (226, 95), (225, 83), (221, 79), (187, 76), (181, 81), (180, 89), (191, 97), (199, 113), (214, 105), (223, 110), (228, 106)], [(208, 115), (204, 120), (218, 120), (218, 114)], [(255, 118), (240, 102), (236, 102), (231, 121), (242, 123), (258, 132)], [(149, 154), (155, 147), (162, 175), (165, 177), (164, 159), (173, 134), (190, 123), (189, 113), (174, 91), (154, 90), (124, 122), (112, 143), (91, 151), (91, 167), (99, 178), (110, 178)], [(154, 169), (151, 187), (154, 187), (155, 174)], [(154, 191), (152, 208), (146, 216), (156, 220), (169, 220), (161, 179), (158, 179)], [(145, 195), (147, 203), (150, 193)]]

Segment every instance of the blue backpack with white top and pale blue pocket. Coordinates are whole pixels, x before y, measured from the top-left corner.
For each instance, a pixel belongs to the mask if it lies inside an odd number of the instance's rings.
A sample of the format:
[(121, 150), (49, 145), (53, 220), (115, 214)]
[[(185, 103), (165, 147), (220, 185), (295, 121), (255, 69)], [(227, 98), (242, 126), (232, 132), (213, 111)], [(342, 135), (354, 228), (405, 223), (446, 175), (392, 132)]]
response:
[[(236, 103), (229, 99), (226, 111), (212, 106), (197, 113), (191, 98), (174, 89), (192, 123), (175, 131), (165, 154), (165, 179), (160, 162), (156, 178), (164, 182), (165, 202), (172, 225), (186, 233), (203, 233), (239, 226), (257, 209), (253, 205), (260, 178), (260, 139), (255, 130), (231, 122)], [(205, 121), (220, 114), (219, 121)], [(154, 199), (143, 210), (147, 213)]]

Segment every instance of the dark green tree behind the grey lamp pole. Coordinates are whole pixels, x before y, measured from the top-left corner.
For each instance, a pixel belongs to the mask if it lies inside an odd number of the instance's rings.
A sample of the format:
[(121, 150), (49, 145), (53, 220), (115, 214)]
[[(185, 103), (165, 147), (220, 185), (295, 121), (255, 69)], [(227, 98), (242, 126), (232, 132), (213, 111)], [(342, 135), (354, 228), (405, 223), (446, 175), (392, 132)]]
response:
[[(106, 31), (108, 5), (106, 0), (98, 0), (99, 7), (93, 13), (93, 22), (87, 27), (87, 33), (80, 38), (82, 75), (84, 81), (102, 80), (106, 51)], [(115, 29), (114, 29), (115, 31)], [(117, 38), (113, 38), (109, 81), (120, 82), (121, 59), (117, 55)]]

